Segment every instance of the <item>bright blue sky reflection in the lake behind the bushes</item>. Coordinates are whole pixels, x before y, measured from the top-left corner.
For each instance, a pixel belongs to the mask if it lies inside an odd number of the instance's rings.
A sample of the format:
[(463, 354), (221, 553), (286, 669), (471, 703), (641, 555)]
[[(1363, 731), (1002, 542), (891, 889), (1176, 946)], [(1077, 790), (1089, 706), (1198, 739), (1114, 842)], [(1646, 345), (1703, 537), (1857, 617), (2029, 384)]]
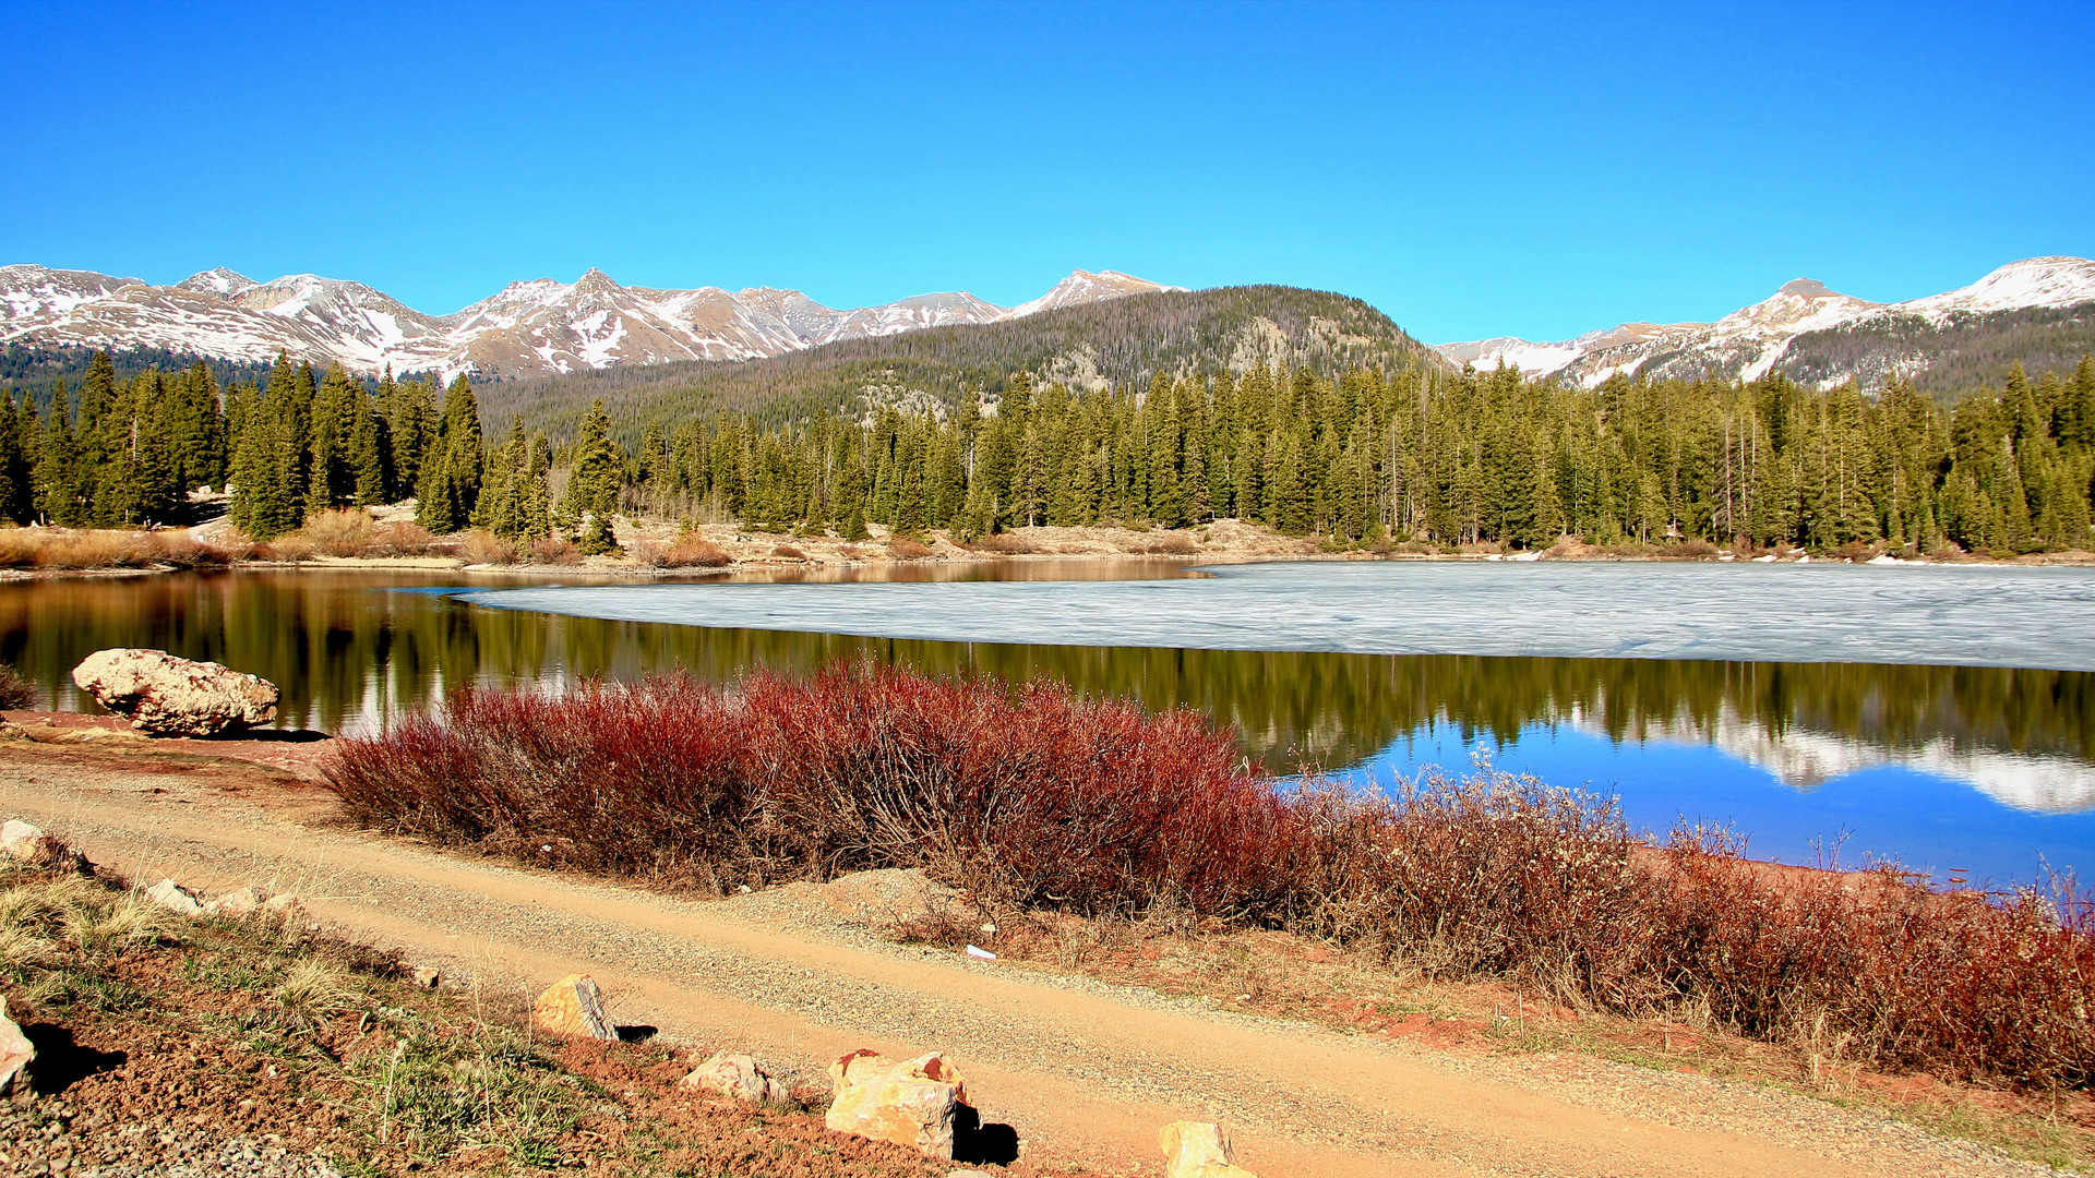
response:
[(1569, 723), (1536, 723), (1500, 746), (1490, 734), (1473, 734), (1464, 744), (1460, 727), (1443, 723), (1391, 742), (1347, 776), (1387, 786), (1427, 765), (1467, 771), (1479, 748), (1500, 769), (1617, 794), (1636, 830), (1663, 836), (1676, 817), (1730, 824), (1749, 834), (1747, 853), (1756, 859), (1816, 866), (1816, 847), (1831, 851), (1848, 832), (1839, 851), (1848, 868), (1862, 866), (1865, 855), (1883, 855), (1936, 878), (1961, 868), (1973, 885), (2032, 882), (2038, 864), (2095, 876), (2095, 809), (2022, 809), (1971, 782), (1904, 765), (1862, 765), (1798, 786), (1772, 767), (1695, 738), (1615, 744)]

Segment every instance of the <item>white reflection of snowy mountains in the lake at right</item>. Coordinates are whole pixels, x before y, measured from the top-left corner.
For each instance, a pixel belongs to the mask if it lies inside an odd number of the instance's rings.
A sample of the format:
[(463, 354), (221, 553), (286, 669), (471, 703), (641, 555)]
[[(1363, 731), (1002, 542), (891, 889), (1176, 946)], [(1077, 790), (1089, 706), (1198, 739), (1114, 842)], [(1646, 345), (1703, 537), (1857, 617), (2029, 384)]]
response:
[[(1605, 727), (1586, 715), (1575, 713), (1571, 723), (1586, 732), (1605, 734)], [(2057, 752), (1973, 748), (1953, 736), (1892, 746), (1806, 727), (1781, 732), (1741, 717), (1733, 708), (1724, 708), (1710, 723), (1647, 721), (1640, 736), (1645, 740), (1712, 744), (1739, 761), (1774, 773), (1779, 782), (1795, 790), (1814, 790), (1848, 773), (1892, 765), (1976, 786), (2001, 805), (2022, 811), (2078, 813), (2095, 809), (2095, 767)]]

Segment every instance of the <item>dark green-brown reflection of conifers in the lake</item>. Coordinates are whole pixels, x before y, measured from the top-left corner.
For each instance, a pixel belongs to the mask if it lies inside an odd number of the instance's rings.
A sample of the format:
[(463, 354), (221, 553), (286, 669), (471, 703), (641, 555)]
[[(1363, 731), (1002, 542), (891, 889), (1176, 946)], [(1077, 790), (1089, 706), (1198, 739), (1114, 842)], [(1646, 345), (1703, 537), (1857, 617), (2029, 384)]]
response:
[[(341, 729), (463, 683), (631, 679), (683, 669), (731, 679), (869, 656), (928, 673), (1052, 675), (1081, 692), (1186, 704), (1280, 759), (1345, 765), (1427, 723), (1464, 740), (1580, 717), (1613, 740), (1697, 732), (1722, 717), (1883, 748), (2095, 759), (2095, 675), (1986, 667), (1475, 658), (993, 646), (781, 631), (712, 631), (490, 610), (402, 572), (218, 572), (0, 585), (0, 660), (80, 706), (69, 671), (107, 646), (157, 646), (251, 671), (285, 692), (285, 723)], [(476, 581), (486, 585), (486, 581)]]

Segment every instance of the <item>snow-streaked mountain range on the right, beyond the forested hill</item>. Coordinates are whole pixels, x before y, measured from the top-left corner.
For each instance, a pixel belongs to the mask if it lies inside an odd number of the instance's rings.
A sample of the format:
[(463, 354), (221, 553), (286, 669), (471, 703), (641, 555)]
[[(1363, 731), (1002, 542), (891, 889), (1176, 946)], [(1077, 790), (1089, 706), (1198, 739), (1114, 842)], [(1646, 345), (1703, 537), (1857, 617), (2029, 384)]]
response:
[(1774, 371), (1818, 388), (1858, 379), (1875, 390), (1886, 377), (1925, 373), (2009, 319), (2026, 327), (2032, 314), (2074, 337), (2095, 329), (2095, 262), (2030, 258), (2001, 266), (1969, 287), (1892, 304), (1848, 298), (1812, 279), (1798, 279), (1716, 323), (1624, 323), (1559, 344), (1498, 337), (1439, 344), (1435, 350), (1479, 371), (1508, 365), (1525, 375), (1575, 379), (1586, 388), (1615, 373), (1760, 379)]

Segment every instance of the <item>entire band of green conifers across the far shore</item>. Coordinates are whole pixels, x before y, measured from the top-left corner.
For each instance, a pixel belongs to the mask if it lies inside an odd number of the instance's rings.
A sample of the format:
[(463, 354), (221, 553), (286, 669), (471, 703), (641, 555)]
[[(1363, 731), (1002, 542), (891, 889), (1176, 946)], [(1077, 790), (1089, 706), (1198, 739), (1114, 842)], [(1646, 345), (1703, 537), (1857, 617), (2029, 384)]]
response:
[[(310, 516), (417, 499), (434, 535), (570, 537), (612, 551), (618, 514), (756, 530), (976, 539), (1031, 524), (1182, 528), (1240, 518), (1332, 545), (1544, 549), (1705, 543), (2015, 555), (2089, 547), (2095, 358), (1953, 407), (1783, 377), (1611, 377), (1598, 388), (1427, 365), (1154, 377), (1073, 392), (1018, 373), (861, 417), (817, 411), (614, 421), (572, 442), (482, 432), (465, 377), (375, 386), (279, 361), (226, 388), (203, 363), (130, 381), (96, 354), (73, 398), (0, 407), (0, 518), (178, 522), (230, 482), (233, 522), (272, 539)], [(618, 436), (639, 436), (635, 449)]]

